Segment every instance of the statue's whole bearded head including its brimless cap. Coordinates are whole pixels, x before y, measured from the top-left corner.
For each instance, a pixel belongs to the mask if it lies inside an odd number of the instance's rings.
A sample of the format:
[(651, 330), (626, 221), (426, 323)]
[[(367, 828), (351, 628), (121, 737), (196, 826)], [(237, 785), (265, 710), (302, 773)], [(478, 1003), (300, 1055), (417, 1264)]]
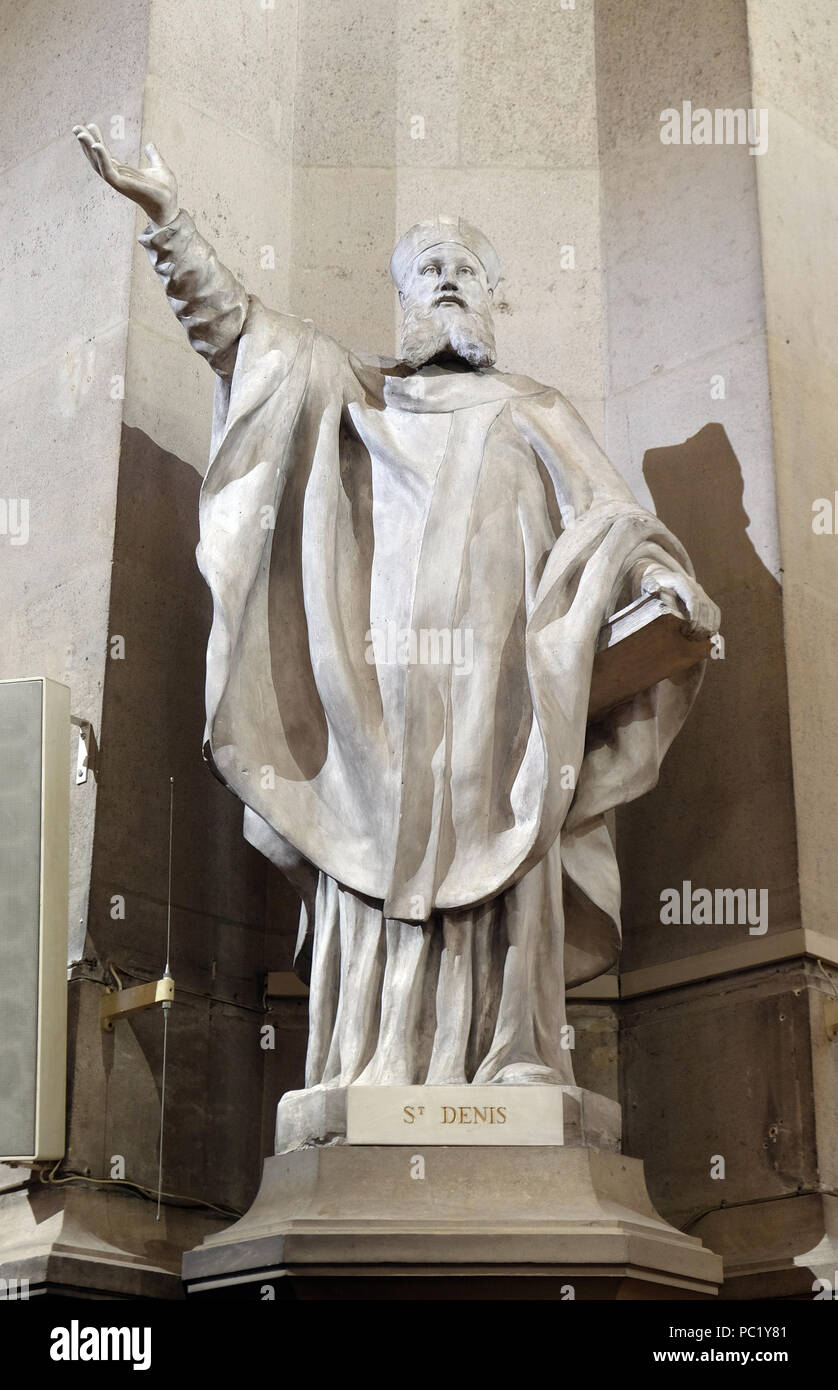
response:
[(417, 222), (396, 246), (391, 275), (404, 310), (402, 359), (410, 367), (446, 357), (492, 366), (500, 263), (477, 227), (460, 217)]

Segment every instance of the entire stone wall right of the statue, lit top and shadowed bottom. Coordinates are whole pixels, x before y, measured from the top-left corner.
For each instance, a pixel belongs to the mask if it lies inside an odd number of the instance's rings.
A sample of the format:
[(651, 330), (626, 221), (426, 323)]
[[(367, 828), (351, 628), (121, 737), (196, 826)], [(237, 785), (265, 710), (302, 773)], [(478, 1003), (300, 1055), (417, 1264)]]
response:
[[(832, 195), (813, 110), (806, 131), (781, 110), (834, 106), (825, 26), (809, 4), (598, 6), (607, 452), (687, 545), (725, 638), (659, 787), (618, 816), (621, 1099), (653, 1200), (725, 1255), (732, 1297), (810, 1291), (795, 1257), (828, 1222), (807, 1194), (834, 1129), (834, 986), (816, 960), (835, 931), (834, 559), (810, 502), (835, 473), (814, 328)], [(766, 152), (663, 145), (660, 113), (685, 100), (766, 108)], [(757, 931), (663, 922), (684, 880), (764, 894)]]

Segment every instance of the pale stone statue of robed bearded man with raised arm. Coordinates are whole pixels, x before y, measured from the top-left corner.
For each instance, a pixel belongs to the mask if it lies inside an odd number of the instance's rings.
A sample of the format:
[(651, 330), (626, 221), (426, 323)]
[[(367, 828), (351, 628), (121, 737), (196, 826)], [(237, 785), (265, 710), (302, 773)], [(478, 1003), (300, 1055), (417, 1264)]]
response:
[(641, 594), (693, 634), (716, 606), (568, 402), (493, 368), (474, 227), (400, 239), (400, 357), (364, 356), (247, 295), (154, 146), (135, 170), (75, 135), (217, 374), (206, 756), (303, 899), (307, 1091), (573, 1084), (566, 988), (618, 949), (606, 815), (655, 785), (703, 674), (589, 724), (598, 634)]

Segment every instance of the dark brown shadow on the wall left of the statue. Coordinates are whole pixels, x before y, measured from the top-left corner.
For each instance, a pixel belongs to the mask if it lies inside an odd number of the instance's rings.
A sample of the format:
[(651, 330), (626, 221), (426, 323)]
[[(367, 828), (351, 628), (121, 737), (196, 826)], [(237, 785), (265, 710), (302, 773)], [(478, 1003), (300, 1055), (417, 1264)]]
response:
[[(264, 976), (284, 963), (282, 929), (293, 942), (296, 905), (202, 759), (211, 600), (195, 560), (199, 489), (192, 467), (124, 430), (86, 958), (113, 963), (124, 986), (163, 973), (174, 777), (165, 1187), (243, 1209), (263, 1158)], [(79, 1038), (76, 1163), (124, 1154), (128, 1176), (156, 1186), (161, 1042), (156, 1009)]]

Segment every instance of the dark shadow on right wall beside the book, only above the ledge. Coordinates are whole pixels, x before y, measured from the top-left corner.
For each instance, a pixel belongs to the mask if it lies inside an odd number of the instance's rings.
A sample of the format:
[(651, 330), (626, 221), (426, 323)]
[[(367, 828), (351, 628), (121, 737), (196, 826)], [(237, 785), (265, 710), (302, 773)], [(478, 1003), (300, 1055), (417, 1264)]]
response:
[(657, 788), (617, 819), (624, 972), (749, 938), (746, 924), (662, 924), (662, 891), (685, 880), (764, 888), (767, 931), (799, 923), (781, 588), (748, 535), (738, 459), (709, 424), (650, 449), (643, 474), (721, 609), (725, 649), (707, 662)]

